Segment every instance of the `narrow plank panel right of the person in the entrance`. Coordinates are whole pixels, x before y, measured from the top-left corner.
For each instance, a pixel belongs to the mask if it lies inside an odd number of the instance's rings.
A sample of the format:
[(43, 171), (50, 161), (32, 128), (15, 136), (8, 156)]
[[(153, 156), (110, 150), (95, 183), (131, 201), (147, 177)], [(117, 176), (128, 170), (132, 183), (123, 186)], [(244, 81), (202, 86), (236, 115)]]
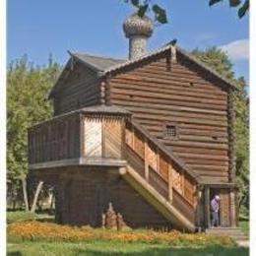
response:
[(230, 212), (229, 212), (229, 193), (227, 189), (221, 189), (221, 225), (229, 226), (230, 225)]

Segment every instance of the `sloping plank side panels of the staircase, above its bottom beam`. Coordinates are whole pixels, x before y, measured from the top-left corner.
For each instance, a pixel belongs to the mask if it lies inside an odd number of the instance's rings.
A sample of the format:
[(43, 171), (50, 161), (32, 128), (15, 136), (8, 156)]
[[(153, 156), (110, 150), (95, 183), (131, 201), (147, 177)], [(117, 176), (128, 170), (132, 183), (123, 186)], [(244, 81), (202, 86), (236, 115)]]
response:
[(126, 160), (160, 195), (192, 223), (196, 222), (197, 176), (188, 173), (147, 131), (128, 121)]

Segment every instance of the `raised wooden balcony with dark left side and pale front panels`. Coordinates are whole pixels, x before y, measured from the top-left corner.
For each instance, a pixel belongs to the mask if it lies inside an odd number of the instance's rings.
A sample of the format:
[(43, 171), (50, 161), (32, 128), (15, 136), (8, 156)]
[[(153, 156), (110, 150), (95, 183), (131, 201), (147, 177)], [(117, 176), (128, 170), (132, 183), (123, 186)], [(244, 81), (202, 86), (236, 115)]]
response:
[(125, 119), (130, 112), (94, 106), (29, 129), (29, 168), (68, 165), (124, 166)]

